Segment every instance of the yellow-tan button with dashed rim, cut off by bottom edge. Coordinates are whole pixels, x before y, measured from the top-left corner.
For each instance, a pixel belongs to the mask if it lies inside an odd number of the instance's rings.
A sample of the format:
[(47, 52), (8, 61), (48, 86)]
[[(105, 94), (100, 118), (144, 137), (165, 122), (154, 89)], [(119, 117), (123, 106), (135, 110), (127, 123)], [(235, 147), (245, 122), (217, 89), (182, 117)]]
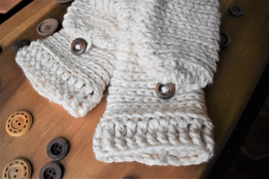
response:
[(21, 158), (9, 162), (3, 171), (3, 178), (31, 178), (32, 168), (30, 163)]

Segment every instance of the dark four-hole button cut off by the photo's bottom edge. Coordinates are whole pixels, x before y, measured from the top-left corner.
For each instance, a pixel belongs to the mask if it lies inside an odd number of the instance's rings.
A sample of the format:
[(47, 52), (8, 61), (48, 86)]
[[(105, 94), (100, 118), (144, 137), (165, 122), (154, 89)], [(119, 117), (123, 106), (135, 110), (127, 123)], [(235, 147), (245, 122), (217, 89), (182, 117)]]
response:
[(40, 172), (39, 172), (39, 178), (44, 179), (60, 179), (62, 177), (62, 169), (61, 167), (56, 163), (47, 163), (45, 164)]

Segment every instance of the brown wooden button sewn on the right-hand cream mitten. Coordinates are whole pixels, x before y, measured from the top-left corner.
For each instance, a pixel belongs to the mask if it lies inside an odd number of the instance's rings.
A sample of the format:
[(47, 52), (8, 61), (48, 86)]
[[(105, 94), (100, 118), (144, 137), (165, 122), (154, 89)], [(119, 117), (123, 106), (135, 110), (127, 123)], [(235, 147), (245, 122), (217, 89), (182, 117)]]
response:
[(159, 98), (168, 100), (175, 94), (175, 85), (173, 83), (157, 83), (155, 90)]

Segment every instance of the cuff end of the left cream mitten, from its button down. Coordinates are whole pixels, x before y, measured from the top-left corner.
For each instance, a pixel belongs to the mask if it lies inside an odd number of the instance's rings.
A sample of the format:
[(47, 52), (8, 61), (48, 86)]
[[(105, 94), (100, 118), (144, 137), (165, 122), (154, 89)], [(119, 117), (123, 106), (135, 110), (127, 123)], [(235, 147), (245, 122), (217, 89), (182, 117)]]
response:
[(20, 49), (16, 62), (39, 94), (82, 117), (100, 102), (115, 57), (96, 46), (76, 56), (71, 52), (73, 40), (61, 30)]

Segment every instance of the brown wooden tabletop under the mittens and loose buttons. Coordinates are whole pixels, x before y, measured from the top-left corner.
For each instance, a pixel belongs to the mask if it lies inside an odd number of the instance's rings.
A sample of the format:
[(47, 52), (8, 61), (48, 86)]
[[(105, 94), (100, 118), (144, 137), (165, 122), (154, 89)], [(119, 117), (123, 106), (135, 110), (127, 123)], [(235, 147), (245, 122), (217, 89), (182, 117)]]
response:
[[(1, 114), (0, 174), (15, 158), (29, 160), (32, 178), (38, 178), (43, 165), (52, 160), (46, 147), (56, 137), (70, 144), (67, 156), (56, 161), (64, 168), (63, 178), (198, 178), (206, 176), (214, 165), (240, 118), (263, 73), (269, 57), (269, 1), (221, 1), (221, 28), (229, 34), (231, 45), (220, 52), (214, 83), (206, 87), (208, 115), (214, 123), (215, 157), (209, 163), (192, 166), (147, 166), (137, 162), (104, 163), (95, 159), (92, 140), (95, 127), (105, 111), (103, 97), (83, 118), (74, 118), (61, 105), (39, 95), (15, 63), (13, 45), (20, 39), (41, 38), (37, 25), (48, 18), (63, 20), (70, 3), (33, 1), (0, 25)], [(244, 8), (241, 17), (228, 13), (236, 3)], [(6, 120), (15, 111), (26, 110), (33, 116), (31, 129), (20, 137), (10, 136)]]

